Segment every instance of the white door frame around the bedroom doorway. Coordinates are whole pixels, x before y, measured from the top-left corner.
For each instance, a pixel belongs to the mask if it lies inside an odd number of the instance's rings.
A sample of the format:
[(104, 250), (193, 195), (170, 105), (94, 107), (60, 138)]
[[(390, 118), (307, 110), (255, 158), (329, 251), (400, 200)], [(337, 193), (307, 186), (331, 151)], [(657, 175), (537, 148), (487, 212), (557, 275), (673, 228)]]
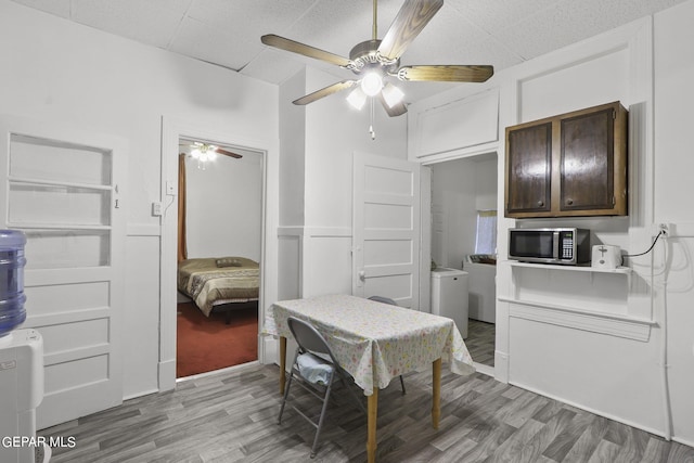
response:
[[(258, 361), (271, 363), (271, 339), (261, 336), (266, 308), (277, 300), (279, 221), (279, 141), (253, 139), (230, 131), (226, 125), (162, 117), (162, 182), (164, 215), (160, 219), (159, 250), (159, 391), (176, 387), (176, 269), (178, 243), (178, 154), (179, 139), (205, 140), (260, 154), (262, 163), (260, 294), (258, 295)], [(273, 265), (274, 262), (274, 265)], [(269, 344), (270, 343), (270, 344)]]

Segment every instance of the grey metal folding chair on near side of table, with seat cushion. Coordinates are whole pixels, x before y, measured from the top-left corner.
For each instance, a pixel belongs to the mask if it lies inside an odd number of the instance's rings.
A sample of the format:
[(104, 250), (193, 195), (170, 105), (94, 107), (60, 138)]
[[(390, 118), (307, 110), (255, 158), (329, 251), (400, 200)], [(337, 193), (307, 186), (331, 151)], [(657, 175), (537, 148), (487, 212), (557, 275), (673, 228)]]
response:
[(301, 410), (292, 406), (299, 415), (304, 416), (304, 419), (316, 428), (316, 437), (313, 438), (313, 446), (311, 447), (311, 458), (313, 458), (316, 456), (318, 440), (325, 420), (327, 401), (330, 400), (331, 391), (333, 390), (333, 383), (336, 380), (339, 378), (339, 381), (342, 381), (344, 387), (349, 390), (358, 408), (364, 414), (367, 413), (367, 410), (355, 391), (349, 387), (347, 382), (347, 378), (350, 378), (349, 373), (343, 370), (339, 365), (333, 355), (333, 351), (325, 342), (325, 338), (311, 324), (297, 318), (290, 317), (287, 319), (287, 324), (294, 339), (298, 344), (298, 347), (296, 348), (290, 377), (284, 389), (284, 398), (282, 399), (282, 406), (280, 407), (278, 424), (282, 423), (284, 406), (286, 404), (290, 396), (293, 380), (296, 377), (296, 384), (323, 401), (318, 423)]

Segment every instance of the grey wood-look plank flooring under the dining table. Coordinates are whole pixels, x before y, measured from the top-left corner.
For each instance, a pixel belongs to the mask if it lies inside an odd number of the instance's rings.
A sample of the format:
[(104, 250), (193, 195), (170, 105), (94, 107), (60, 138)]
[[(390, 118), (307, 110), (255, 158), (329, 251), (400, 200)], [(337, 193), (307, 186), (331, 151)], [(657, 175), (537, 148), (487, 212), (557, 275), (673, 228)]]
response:
[[(73, 449), (53, 450), (52, 463), (309, 462), (313, 428), (291, 408), (277, 424), (278, 378), (277, 365), (243, 365), (39, 434), (75, 438)], [(381, 391), (380, 462), (694, 462), (690, 447), (446, 366), (435, 430), (430, 383), (426, 371), (406, 375), (404, 396), (398, 381)], [(301, 390), (292, 389), (304, 402)], [(345, 395), (338, 399), (312, 461), (364, 462), (365, 416)]]

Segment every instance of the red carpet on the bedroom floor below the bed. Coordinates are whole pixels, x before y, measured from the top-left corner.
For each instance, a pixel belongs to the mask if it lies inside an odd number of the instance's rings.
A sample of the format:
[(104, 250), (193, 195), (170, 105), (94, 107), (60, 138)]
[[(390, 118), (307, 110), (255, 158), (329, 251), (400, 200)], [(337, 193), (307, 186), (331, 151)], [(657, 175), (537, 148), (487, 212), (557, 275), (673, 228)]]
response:
[(193, 303), (178, 305), (176, 377), (191, 376), (258, 359), (256, 308), (205, 317)]

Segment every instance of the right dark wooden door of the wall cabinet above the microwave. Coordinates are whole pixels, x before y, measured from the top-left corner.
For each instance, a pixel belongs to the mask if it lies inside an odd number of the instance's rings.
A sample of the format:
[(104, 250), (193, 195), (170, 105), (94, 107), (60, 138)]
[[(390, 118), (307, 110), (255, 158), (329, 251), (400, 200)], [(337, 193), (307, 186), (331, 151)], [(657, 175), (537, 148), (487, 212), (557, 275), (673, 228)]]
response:
[(612, 209), (614, 111), (565, 118), (561, 125), (560, 210)]

